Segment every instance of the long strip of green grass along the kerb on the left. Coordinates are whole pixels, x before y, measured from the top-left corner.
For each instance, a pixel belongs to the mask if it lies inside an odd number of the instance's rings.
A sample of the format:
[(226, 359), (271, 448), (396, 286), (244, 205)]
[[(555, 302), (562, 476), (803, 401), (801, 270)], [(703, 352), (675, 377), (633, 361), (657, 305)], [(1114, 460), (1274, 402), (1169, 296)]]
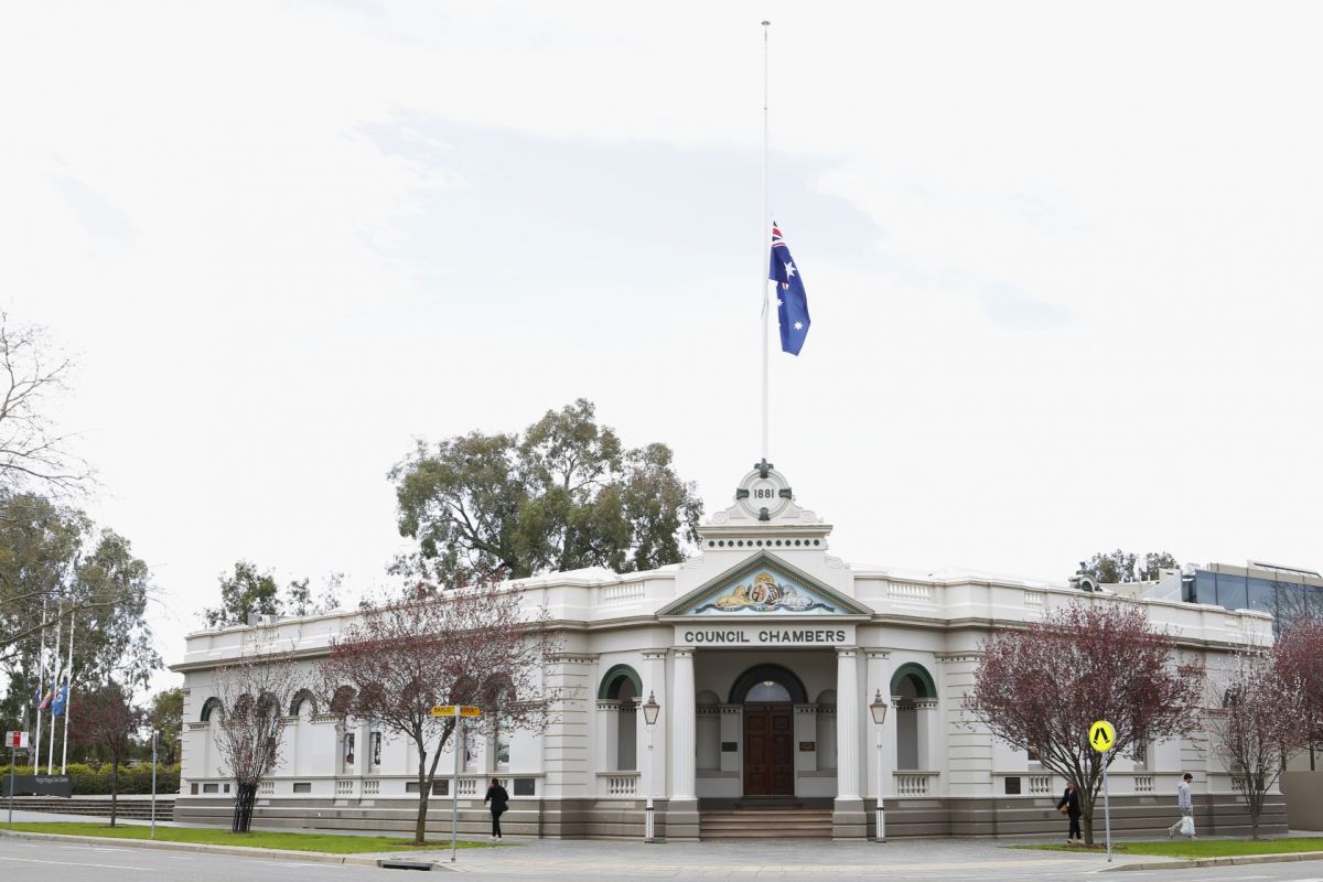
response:
[[(8, 829), (8, 828), (0, 828)], [(151, 838), (146, 824), (110, 826), (107, 824), (15, 824), (24, 833), (62, 833), (65, 836), (105, 836), (112, 840)], [(258, 849), (287, 849), (291, 852), (324, 852), (329, 854), (360, 854), (364, 852), (400, 852), (410, 849), (450, 848), (450, 840), (433, 840), (417, 846), (413, 840), (390, 836), (335, 836), (333, 833), (230, 833), (217, 828), (157, 826), (156, 838), (163, 842), (194, 842), (197, 845), (242, 845)], [(459, 840), (459, 848), (488, 848), (490, 842)]]

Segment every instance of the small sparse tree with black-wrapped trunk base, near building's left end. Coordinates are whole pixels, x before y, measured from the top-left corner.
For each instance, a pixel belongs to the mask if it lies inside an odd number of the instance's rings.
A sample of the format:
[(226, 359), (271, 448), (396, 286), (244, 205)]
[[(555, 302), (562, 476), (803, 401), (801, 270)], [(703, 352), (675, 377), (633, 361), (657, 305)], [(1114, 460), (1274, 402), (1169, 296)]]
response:
[(299, 672), (287, 651), (259, 637), (253, 652), (217, 668), (221, 700), (217, 748), (234, 779), (234, 819), (230, 829), (247, 833), (262, 780), (282, 762), (283, 709), (299, 688)]

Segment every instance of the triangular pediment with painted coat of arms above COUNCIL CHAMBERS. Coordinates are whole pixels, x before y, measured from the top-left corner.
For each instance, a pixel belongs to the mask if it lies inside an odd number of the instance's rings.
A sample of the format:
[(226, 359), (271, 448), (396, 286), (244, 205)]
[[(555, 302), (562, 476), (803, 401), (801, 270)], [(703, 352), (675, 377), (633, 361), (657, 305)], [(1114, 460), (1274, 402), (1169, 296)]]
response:
[(833, 591), (803, 570), (761, 551), (689, 591), (659, 616), (835, 616), (872, 610)]

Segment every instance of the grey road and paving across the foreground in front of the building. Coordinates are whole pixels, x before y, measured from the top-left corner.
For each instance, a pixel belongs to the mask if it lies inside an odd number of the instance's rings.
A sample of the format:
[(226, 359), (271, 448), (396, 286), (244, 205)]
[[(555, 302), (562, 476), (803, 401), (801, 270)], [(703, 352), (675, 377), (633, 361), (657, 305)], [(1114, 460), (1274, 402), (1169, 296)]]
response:
[[(422, 857), (422, 856), (418, 856)], [(445, 858), (447, 856), (433, 856)], [(1136, 860), (1136, 858), (1131, 858)], [(1152, 858), (1138, 858), (1152, 860)], [(1115, 867), (1122, 861), (1111, 866)], [(516, 848), (460, 852), (459, 863), (434, 871), (470, 878), (536, 878), (550, 882), (610, 879), (1088, 879), (1097, 882), (1323, 882), (1323, 861), (1208, 869), (1109, 871), (1093, 854), (1024, 852), (978, 840), (831, 842), (560, 842), (529, 840)], [(119, 844), (52, 844), (0, 837), (0, 881), (9, 882), (390, 882), (415, 879), (405, 870), (126, 848)]]

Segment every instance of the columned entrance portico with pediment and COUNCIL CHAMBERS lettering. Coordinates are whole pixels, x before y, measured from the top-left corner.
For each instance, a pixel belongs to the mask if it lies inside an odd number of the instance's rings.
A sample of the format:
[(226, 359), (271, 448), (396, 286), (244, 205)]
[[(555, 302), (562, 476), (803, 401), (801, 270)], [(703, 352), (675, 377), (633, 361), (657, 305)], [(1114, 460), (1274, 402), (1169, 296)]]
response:
[(668, 836), (700, 799), (808, 799), (831, 801), (835, 837), (863, 838), (856, 629), (872, 611), (766, 546), (742, 557), (658, 614), (675, 641)]

